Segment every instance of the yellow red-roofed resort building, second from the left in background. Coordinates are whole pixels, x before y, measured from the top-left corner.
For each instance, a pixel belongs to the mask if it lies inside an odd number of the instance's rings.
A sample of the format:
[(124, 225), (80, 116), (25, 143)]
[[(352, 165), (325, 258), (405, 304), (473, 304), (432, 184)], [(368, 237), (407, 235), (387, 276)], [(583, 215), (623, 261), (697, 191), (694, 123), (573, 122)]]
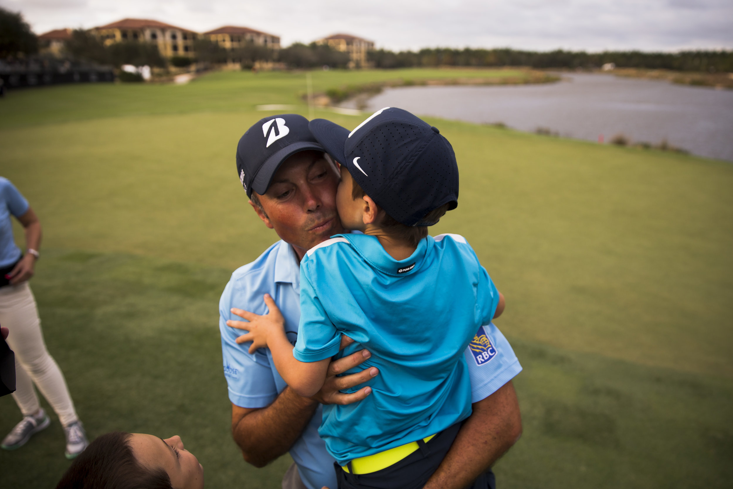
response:
[(194, 57), (194, 40), (199, 34), (169, 23), (139, 18), (126, 18), (122, 21), (95, 27), (91, 31), (106, 45), (122, 41), (146, 41), (158, 45), (161, 56)]

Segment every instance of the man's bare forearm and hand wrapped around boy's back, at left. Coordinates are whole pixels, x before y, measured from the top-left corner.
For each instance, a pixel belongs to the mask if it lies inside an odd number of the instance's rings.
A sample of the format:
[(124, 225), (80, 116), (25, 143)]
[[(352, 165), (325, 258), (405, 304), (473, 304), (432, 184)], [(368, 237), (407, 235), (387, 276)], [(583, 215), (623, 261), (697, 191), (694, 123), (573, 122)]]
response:
[[(351, 342), (352, 339), (344, 337), (342, 348)], [(356, 367), (370, 356), (369, 351), (361, 350), (332, 361), (323, 388), (312, 399), (300, 397), (286, 387), (266, 408), (248, 409), (232, 404), (232, 436), (244, 460), (255, 467), (264, 467), (284, 455), (305, 430), (318, 402), (350, 404), (367, 397), (372, 392), (370, 387), (353, 394), (342, 394), (339, 390), (367, 382), (377, 375), (375, 367), (344, 377), (336, 377), (336, 374)]]

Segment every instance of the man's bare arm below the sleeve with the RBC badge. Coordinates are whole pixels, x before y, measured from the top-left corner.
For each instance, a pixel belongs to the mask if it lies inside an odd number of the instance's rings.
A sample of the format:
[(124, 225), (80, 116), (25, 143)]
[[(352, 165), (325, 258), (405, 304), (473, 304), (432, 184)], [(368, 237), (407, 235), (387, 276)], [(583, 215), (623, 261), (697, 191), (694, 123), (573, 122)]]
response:
[(474, 402), (438, 470), (424, 489), (463, 489), (487, 471), (522, 435), (522, 417), (512, 381)]

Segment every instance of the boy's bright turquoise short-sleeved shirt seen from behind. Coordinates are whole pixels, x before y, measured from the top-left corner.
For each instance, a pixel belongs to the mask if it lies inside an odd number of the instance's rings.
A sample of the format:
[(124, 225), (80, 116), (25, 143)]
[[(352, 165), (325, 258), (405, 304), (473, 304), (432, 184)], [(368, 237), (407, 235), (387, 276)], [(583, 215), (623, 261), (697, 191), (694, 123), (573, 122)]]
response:
[[(490, 323), (498, 291), (465, 238), (428, 236), (398, 261), (373, 236), (336, 235), (303, 257), (300, 282), (295, 358), (319, 361), (367, 348), (371, 358), (346, 373), (380, 369), (367, 383), (369, 397), (323, 409), (319, 433), (339, 464), (471, 414), (464, 350)], [(355, 342), (339, 353), (341, 334)]]

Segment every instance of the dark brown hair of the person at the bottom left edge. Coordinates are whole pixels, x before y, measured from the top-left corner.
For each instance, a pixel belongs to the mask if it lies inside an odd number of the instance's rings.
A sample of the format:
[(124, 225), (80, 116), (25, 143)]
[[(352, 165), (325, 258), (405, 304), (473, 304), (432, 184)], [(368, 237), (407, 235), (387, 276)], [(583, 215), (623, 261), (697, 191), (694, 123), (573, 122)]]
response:
[(56, 489), (173, 489), (162, 469), (142, 466), (130, 448), (130, 433), (97, 437), (75, 458)]

